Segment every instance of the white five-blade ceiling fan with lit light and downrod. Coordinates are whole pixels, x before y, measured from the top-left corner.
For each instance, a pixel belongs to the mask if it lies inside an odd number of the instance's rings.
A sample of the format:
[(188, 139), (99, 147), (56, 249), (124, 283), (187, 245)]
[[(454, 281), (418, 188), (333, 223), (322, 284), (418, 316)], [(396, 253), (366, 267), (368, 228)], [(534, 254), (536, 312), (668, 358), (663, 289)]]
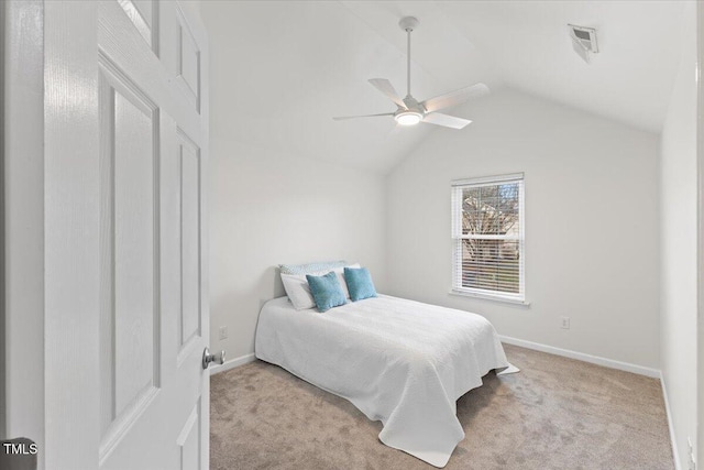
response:
[(462, 129), (466, 124), (471, 123), (469, 119), (458, 118), (454, 116), (443, 114), (437, 112), (443, 108), (449, 108), (454, 105), (459, 105), (469, 100), (470, 98), (477, 98), (490, 92), (488, 87), (484, 84), (475, 84), (465, 88), (461, 88), (455, 91), (451, 91), (446, 95), (440, 95), (435, 98), (427, 99), (425, 101), (418, 101), (410, 95), (410, 33), (417, 28), (419, 21), (415, 17), (404, 17), (398, 22), (402, 30), (408, 34), (408, 94), (406, 98), (400, 99), (394, 86), (386, 78), (372, 78), (372, 84), (377, 90), (386, 95), (392, 101), (396, 103), (395, 112), (383, 112), (381, 114), (366, 114), (366, 116), (344, 116), (339, 118), (332, 118), (336, 121), (356, 118), (375, 118), (380, 116), (393, 116), (396, 122), (402, 125), (414, 125), (418, 122), (427, 122), (429, 124), (443, 125), (446, 128)]

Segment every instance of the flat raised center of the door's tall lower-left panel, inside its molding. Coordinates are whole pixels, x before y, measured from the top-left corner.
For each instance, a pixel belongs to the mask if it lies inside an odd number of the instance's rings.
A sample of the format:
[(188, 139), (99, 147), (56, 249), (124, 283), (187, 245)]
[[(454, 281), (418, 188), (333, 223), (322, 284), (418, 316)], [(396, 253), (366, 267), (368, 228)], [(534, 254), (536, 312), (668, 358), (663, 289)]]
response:
[[(134, 98), (132, 98), (134, 99)], [(154, 270), (155, 112), (114, 94), (114, 413), (158, 386)]]

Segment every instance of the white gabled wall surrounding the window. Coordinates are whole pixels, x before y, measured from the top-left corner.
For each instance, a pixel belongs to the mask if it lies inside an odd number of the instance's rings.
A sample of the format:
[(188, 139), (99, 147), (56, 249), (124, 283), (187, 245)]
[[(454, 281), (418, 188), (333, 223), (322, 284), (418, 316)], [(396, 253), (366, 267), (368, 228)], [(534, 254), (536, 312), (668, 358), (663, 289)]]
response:
[[(388, 293), (501, 335), (659, 368), (658, 136), (505, 89), (388, 176)], [(451, 296), (450, 182), (525, 173), (529, 307)], [(571, 317), (571, 329), (560, 328)]]

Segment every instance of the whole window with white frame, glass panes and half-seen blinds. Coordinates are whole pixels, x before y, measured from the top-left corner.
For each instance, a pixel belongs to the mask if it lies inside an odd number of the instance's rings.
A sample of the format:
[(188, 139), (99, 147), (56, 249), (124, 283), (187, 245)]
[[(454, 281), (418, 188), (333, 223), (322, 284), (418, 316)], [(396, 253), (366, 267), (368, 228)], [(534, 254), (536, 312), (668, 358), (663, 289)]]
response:
[(524, 175), (452, 182), (452, 291), (525, 302)]

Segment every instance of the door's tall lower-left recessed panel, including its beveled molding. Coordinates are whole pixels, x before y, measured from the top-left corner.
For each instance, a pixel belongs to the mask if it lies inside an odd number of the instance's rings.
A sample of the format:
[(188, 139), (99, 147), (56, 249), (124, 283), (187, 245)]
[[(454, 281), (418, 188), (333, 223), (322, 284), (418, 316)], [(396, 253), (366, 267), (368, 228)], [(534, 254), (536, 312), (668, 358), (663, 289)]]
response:
[(158, 110), (113, 64), (101, 62), (102, 458), (156, 393), (161, 348), (155, 270)]

